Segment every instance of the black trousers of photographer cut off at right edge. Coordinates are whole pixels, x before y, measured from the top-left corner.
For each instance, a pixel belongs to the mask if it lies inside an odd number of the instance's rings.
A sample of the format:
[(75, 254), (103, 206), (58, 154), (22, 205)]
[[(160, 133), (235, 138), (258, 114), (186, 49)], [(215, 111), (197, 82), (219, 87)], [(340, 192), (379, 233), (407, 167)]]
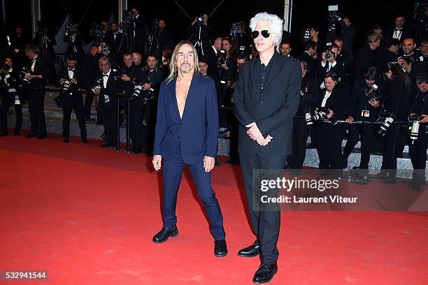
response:
[(427, 149), (428, 149), (428, 134), (425, 133), (425, 125), (420, 125), (418, 140), (409, 145), (410, 155), (413, 166), (414, 185), (425, 184), (425, 167), (427, 166)]

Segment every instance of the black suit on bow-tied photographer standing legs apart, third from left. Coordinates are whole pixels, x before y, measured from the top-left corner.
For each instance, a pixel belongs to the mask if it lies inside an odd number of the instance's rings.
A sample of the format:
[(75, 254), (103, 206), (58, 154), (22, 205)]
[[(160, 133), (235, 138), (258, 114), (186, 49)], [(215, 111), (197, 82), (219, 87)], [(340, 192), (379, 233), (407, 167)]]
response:
[[(68, 81), (71, 80), (69, 73), (69, 68), (62, 70), (59, 73), (59, 78), (66, 79)], [(71, 112), (76, 112), (76, 118), (78, 119), (79, 129), (80, 129), (80, 137), (86, 138), (86, 124), (85, 124), (85, 116), (83, 114), (83, 96), (82, 93), (79, 92), (79, 89), (82, 88), (83, 85), (83, 75), (80, 70), (75, 67), (73, 69), (73, 77), (77, 80), (76, 83), (69, 82), (69, 91), (62, 93), (62, 101), (64, 102), (62, 110), (64, 111), (64, 118), (62, 120), (62, 136), (64, 138), (69, 138), (70, 136), (70, 119)]]

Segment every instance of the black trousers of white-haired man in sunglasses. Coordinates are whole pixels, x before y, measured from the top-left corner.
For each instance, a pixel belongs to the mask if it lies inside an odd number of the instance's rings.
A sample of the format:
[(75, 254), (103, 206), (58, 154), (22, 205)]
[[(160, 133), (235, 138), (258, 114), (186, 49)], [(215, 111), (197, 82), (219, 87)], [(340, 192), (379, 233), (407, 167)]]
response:
[[(260, 245), (262, 254), (260, 259), (262, 263), (276, 263), (279, 256), (278, 243), (280, 232), (280, 210), (264, 208), (266, 205), (261, 204), (260, 207), (253, 207), (259, 200), (261, 194), (259, 188), (260, 177), (264, 174), (260, 169), (283, 169), (287, 156), (265, 156), (263, 154), (241, 154), (241, 170), (245, 185), (245, 194), (247, 198), (248, 212), (250, 214), (252, 232), (257, 237), (257, 242)], [(258, 173), (258, 181), (253, 184), (253, 170)], [(271, 189), (269, 191), (272, 191)], [(271, 192), (272, 193), (272, 192)], [(273, 192), (275, 195), (277, 192)]]

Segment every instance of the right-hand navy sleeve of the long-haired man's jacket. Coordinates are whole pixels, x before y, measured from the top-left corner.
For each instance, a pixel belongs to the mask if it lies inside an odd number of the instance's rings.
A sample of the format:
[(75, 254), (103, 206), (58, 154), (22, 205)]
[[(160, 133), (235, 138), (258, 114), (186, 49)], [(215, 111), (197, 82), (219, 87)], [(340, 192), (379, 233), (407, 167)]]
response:
[[(218, 143), (218, 104), (217, 94), (215, 93), (215, 84), (210, 80), (206, 94), (206, 149), (205, 155), (210, 157), (217, 156)], [(158, 110), (159, 114), (159, 110)]]

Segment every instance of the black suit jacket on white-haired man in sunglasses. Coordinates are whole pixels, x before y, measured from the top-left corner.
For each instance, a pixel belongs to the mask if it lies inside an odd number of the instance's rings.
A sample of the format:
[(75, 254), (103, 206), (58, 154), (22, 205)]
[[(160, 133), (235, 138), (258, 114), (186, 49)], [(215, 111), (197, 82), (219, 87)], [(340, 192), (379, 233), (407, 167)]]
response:
[[(239, 152), (287, 156), (292, 152), (293, 117), (299, 107), (301, 66), (297, 59), (273, 55), (273, 64), (264, 89), (260, 87), (260, 61), (244, 64), (239, 71), (234, 93), (235, 115), (239, 126)], [(255, 122), (264, 138), (273, 138), (262, 147), (246, 133)]]

